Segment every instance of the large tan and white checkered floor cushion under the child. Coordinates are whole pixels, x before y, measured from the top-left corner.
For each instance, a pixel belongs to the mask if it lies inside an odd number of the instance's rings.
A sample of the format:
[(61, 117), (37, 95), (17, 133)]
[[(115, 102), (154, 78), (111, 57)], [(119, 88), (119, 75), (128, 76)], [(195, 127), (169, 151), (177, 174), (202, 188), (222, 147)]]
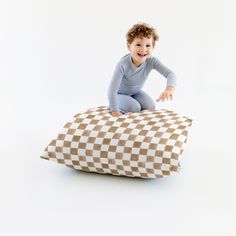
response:
[(160, 178), (179, 170), (191, 124), (166, 109), (113, 117), (108, 107), (96, 107), (75, 115), (41, 158), (83, 171)]

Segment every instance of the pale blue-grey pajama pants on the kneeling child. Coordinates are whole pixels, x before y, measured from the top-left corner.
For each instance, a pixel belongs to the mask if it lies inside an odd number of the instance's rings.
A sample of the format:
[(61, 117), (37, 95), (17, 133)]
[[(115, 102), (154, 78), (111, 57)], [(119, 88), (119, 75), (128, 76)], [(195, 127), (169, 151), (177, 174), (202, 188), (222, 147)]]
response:
[(155, 102), (153, 99), (142, 90), (131, 96), (118, 94), (118, 104), (121, 112), (123, 113), (155, 109)]

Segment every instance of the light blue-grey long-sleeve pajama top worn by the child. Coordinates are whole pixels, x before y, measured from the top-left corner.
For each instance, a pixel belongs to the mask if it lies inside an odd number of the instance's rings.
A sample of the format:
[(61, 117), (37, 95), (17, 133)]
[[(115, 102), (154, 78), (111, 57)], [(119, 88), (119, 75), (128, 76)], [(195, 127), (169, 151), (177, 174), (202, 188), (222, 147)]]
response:
[(108, 89), (111, 111), (119, 111), (117, 94), (134, 95), (144, 85), (152, 69), (157, 70), (167, 79), (167, 86), (176, 86), (175, 74), (164, 66), (156, 57), (151, 56), (139, 67), (132, 64), (131, 54), (125, 55), (117, 63)]

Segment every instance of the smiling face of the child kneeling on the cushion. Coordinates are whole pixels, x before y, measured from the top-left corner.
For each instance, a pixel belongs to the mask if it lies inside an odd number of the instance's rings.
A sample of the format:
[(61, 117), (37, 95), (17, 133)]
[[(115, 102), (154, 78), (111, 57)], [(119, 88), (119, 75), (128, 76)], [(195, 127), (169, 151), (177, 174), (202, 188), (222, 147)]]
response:
[(132, 43), (128, 43), (128, 49), (134, 65), (140, 66), (152, 54), (153, 38), (135, 38)]

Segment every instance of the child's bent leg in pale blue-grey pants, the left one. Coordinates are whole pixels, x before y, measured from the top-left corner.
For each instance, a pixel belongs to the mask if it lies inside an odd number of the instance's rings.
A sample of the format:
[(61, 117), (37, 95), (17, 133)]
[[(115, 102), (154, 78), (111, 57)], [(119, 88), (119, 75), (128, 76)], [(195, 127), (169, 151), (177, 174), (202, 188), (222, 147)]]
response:
[(141, 106), (138, 101), (129, 95), (118, 94), (119, 108), (123, 112), (140, 112)]

